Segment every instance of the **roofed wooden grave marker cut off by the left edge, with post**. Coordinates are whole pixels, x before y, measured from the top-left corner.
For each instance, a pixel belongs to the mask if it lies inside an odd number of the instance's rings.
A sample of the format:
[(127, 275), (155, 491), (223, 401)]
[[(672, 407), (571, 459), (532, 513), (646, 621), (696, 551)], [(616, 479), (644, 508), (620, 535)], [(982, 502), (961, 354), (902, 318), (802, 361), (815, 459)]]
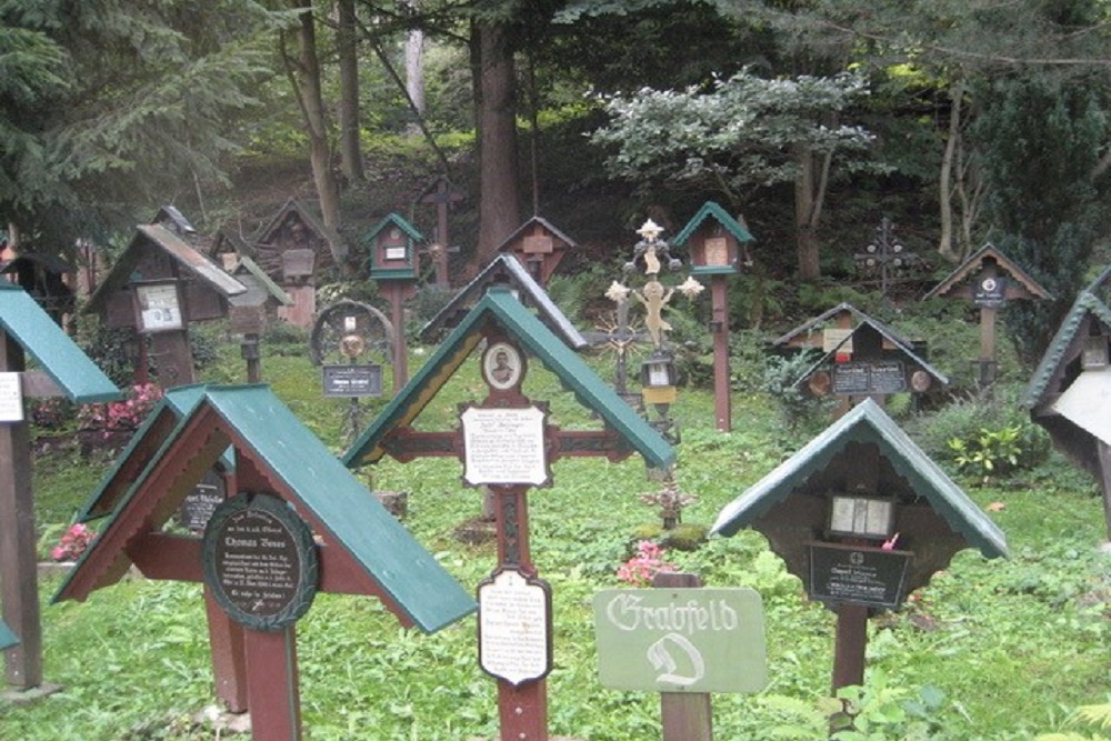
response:
[[(28, 371), (26, 358), (38, 371)], [(0, 281), (0, 599), (19, 643), (4, 651), (17, 691), (42, 684), (34, 502), (27, 398), (113, 401), (120, 391), (22, 289)]]

